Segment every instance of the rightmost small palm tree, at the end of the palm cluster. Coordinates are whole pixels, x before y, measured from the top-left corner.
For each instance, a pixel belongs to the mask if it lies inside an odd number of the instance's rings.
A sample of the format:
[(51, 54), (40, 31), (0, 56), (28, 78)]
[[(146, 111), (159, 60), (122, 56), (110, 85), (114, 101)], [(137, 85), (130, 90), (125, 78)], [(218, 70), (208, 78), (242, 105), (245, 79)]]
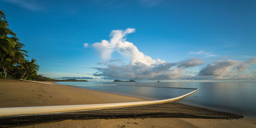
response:
[(29, 61), (28, 59), (25, 59), (25, 61), (21, 63), (20, 67), (24, 71), (22, 76), (20, 76), (20, 79), (23, 79), (25, 75), (27, 75), (25, 77), (25, 79), (27, 79), (29, 75), (32, 75), (39, 70), (39, 65), (37, 65), (36, 60), (33, 58), (31, 59), (31, 61)]

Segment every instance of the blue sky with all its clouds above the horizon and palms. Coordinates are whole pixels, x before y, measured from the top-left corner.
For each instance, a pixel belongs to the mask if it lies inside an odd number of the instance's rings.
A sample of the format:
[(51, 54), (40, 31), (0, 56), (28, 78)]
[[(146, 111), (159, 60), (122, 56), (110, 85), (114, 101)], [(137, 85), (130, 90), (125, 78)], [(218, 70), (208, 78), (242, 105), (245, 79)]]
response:
[(0, 0), (38, 74), (256, 80), (256, 1)]

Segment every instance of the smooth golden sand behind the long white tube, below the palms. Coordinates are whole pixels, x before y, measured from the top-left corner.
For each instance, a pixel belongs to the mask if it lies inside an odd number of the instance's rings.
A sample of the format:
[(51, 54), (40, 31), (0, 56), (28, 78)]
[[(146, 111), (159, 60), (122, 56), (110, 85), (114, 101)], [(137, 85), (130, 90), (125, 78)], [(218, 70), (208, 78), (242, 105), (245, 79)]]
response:
[(78, 89), (58, 84), (0, 79), (0, 107), (145, 101), (144, 99)]

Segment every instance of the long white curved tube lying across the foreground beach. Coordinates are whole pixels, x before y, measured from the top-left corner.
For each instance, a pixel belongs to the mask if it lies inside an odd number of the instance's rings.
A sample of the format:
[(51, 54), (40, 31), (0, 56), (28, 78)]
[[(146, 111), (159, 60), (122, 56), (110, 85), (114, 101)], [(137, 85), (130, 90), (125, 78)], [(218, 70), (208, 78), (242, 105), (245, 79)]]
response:
[(179, 97), (153, 100), (153, 101), (137, 101), (137, 102), (121, 102), (121, 103), (100, 103), (100, 104), (79, 104), (79, 105), (54, 105), (54, 106), (24, 106), (24, 107), (12, 107), (12, 108), (0, 108), (0, 116), (13, 116), (13, 115), (33, 115), (33, 114), (48, 114), (48, 113), (60, 113), (60, 112), (76, 112), (76, 111), (89, 111), (100, 109), (113, 109), (122, 108), (127, 106), (148, 105), (164, 102), (173, 102), (180, 100), (190, 94), (195, 93), (194, 90), (190, 93), (184, 94)]

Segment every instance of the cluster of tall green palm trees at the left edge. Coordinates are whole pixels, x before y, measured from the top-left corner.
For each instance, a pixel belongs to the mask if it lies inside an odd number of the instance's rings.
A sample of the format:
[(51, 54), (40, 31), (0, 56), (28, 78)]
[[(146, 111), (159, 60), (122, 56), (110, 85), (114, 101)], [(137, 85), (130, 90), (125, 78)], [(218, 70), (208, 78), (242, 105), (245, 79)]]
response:
[(0, 10), (0, 78), (36, 79), (39, 65), (35, 59), (26, 58), (28, 51), (24, 47)]

